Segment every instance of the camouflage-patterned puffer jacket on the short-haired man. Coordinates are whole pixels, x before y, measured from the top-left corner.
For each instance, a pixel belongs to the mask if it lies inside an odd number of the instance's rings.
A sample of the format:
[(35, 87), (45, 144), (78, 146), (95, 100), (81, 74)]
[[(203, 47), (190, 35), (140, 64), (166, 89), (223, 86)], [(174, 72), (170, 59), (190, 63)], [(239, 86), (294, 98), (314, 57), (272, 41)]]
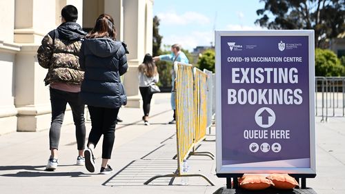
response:
[(68, 21), (43, 37), (37, 59), (40, 66), (48, 68), (46, 85), (53, 82), (81, 84), (84, 72), (79, 66), (79, 50), (85, 35), (78, 23)]

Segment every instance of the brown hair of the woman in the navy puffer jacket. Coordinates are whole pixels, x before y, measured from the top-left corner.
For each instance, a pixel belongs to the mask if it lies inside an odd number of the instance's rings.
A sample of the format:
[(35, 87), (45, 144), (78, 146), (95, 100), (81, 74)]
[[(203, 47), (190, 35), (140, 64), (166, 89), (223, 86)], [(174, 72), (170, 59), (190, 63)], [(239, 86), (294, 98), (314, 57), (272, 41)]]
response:
[(108, 37), (116, 41), (116, 30), (114, 19), (110, 14), (100, 14), (96, 20), (95, 27), (86, 35), (87, 39)]

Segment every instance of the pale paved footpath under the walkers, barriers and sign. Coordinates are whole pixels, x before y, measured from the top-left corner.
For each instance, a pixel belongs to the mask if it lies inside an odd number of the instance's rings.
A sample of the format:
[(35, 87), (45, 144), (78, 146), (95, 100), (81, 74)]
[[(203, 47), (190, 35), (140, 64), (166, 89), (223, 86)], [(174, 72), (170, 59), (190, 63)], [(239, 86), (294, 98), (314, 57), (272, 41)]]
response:
[[(121, 108), (124, 122), (117, 126), (110, 165), (114, 173), (89, 173), (76, 166), (77, 145), (74, 126), (63, 126), (59, 148), (59, 167), (44, 171), (50, 151), (48, 130), (37, 133), (10, 133), (0, 136), (0, 193), (214, 193), (226, 180), (215, 176), (215, 160), (205, 156), (188, 159), (190, 173), (208, 177), (215, 186), (200, 177), (189, 177), (188, 185), (160, 178), (144, 185), (150, 177), (170, 174), (177, 168), (175, 125), (170, 121), (170, 94), (155, 95), (150, 126), (141, 122), (142, 110)], [(317, 177), (307, 186), (317, 193), (345, 193), (345, 118), (330, 117), (321, 123), (317, 117)], [(49, 126), (47, 126), (48, 128)], [(87, 123), (88, 132), (90, 122)], [(87, 133), (88, 134), (88, 133)], [(201, 143), (199, 151), (215, 153), (215, 127)], [(100, 169), (101, 144), (96, 148), (96, 170)]]

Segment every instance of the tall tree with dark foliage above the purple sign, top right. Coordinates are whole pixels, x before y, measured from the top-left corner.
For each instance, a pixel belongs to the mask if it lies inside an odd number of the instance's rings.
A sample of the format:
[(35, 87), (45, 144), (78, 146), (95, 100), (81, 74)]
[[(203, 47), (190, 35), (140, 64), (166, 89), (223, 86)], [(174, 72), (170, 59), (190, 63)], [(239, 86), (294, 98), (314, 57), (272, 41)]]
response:
[(315, 30), (315, 46), (345, 30), (345, 0), (260, 0), (257, 10), (262, 27), (275, 30)]

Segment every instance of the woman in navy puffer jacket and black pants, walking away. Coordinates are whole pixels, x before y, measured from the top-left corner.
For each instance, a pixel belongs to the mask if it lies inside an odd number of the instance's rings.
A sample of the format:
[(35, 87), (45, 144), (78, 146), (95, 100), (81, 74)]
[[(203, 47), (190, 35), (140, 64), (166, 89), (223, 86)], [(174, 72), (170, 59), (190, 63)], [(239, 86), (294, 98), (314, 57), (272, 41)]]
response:
[(121, 105), (126, 105), (126, 94), (120, 76), (127, 71), (128, 50), (126, 44), (116, 40), (114, 19), (109, 14), (101, 14), (95, 27), (86, 35), (79, 54), (80, 66), (85, 70), (81, 84), (81, 99), (88, 105), (91, 130), (88, 148), (85, 150), (86, 169), (95, 172), (93, 151), (101, 135), (101, 174), (112, 172), (108, 164), (115, 141), (117, 114)]

